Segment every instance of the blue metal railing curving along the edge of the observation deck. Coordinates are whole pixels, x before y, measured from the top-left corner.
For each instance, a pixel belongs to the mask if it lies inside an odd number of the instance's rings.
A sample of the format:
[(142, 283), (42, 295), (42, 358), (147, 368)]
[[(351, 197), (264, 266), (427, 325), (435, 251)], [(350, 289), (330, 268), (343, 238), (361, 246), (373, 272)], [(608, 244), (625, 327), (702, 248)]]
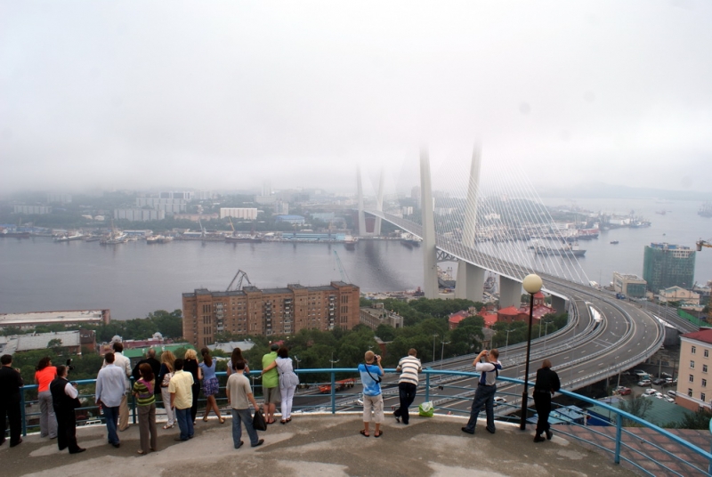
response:
[[(395, 373), (395, 370), (386, 369), (385, 372), (392, 374)], [(360, 412), (358, 409), (358, 398), (360, 396), (360, 392), (348, 391), (348, 389), (352, 388), (355, 379), (352, 379), (351, 383), (342, 385), (339, 384), (339, 379), (337, 379), (337, 376), (348, 376), (350, 378), (358, 377), (359, 374), (356, 369), (299, 369), (297, 370), (297, 373), (300, 376), (328, 375), (329, 379), (326, 382), (300, 384), (298, 392), (295, 393), (295, 405), (293, 407), (295, 412), (309, 413), (326, 411), (336, 414), (336, 412), (345, 412), (349, 409)], [(466, 384), (457, 384), (457, 381), (473, 380), (480, 376), (479, 373), (426, 368), (423, 370), (423, 374), (425, 375), (425, 379), (421, 380), (421, 384), (419, 386), (419, 395), (423, 397), (423, 400), (433, 401), (436, 411), (441, 413), (460, 414), (463, 416), (469, 415), (469, 410), (465, 404), (469, 404), (472, 401), (474, 392), (473, 387)], [(259, 397), (262, 391), (262, 386), (259, 384), (259, 375), (260, 371), (252, 371), (250, 373), (254, 388), (253, 392), (255, 392), (255, 396), (257, 397)], [(217, 373), (217, 376), (219, 376), (224, 384), (223, 377), (225, 376), (225, 373)], [(437, 377), (433, 379), (432, 376)], [(255, 380), (257, 383), (255, 383)], [(301, 379), (301, 381), (303, 381), (303, 379)], [(524, 383), (520, 379), (504, 376), (499, 376), (498, 381), (512, 384)], [(84, 399), (87, 403), (93, 403), (93, 392), (90, 392), (90, 390), (94, 383), (94, 379), (77, 381), (80, 390), (80, 398)], [(395, 380), (392, 382), (386, 382), (384, 380), (381, 384), (384, 399), (393, 399), (398, 397), (397, 385), (398, 384)], [(36, 422), (38, 421), (39, 413), (27, 412), (28, 406), (36, 401), (27, 401), (25, 399), (25, 392), (35, 388), (36, 385), (28, 385), (23, 388), (21, 396), (23, 435), (27, 435), (28, 430), (38, 431), (39, 428), (39, 424)], [(627, 412), (621, 411), (619, 408), (615, 408), (601, 401), (593, 400), (575, 392), (568, 392), (564, 390), (561, 391), (561, 394), (580, 403), (598, 406), (599, 408), (603, 408), (610, 413), (611, 427), (615, 426), (614, 434), (606, 433), (605, 427), (587, 425), (586, 418), (583, 419), (583, 424), (577, 424), (573, 420), (571, 420), (570, 423), (567, 423), (570, 425), (570, 431), (567, 431), (566, 425), (559, 425), (557, 426), (557, 432), (567, 435), (572, 439), (582, 441), (587, 445), (592, 445), (596, 449), (600, 449), (605, 453), (611, 454), (611, 457), (616, 464), (620, 464), (620, 462), (623, 461), (624, 463), (627, 463), (627, 465), (631, 465), (635, 467), (636, 470), (648, 475), (659, 475), (660, 473), (681, 476), (692, 474), (712, 474), (712, 449), (710, 452), (700, 449), (691, 442), (685, 441), (674, 433), (670, 433), (655, 424), (645, 421), (643, 418), (628, 414)], [(515, 408), (520, 408), (520, 405), (516, 404), (514, 401), (521, 398), (516, 392), (499, 392), (498, 395), (500, 395), (500, 397), (504, 396), (509, 400), (512, 400), (512, 402), (504, 401), (500, 403), (498, 408), (496, 408), (498, 410), (497, 418), (499, 420), (514, 421), (514, 418), (510, 417), (509, 414), (513, 414)], [(87, 398), (91, 398), (91, 400)], [(224, 397), (224, 385), (221, 385), (221, 392), (216, 396), (216, 399), (219, 403), (224, 402), (226, 404), (226, 398)], [(531, 398), (529, 398), (529, 400), (531, 401)], [(135, 423), (136, 403), (133, 397), (129, 402), (130, 408), (132, 409), (132, 421)], [(199, 402), (204, 402), (204, 400), (199, 400)], [(158, 399), (157, 403), (160, 405)], [(555, 403), (553, 404), (556, 405)], [(87, 405), (82, 408), (77, 408), (77, 411), (84, 411), (84, 418), (80, 419), (77, 424), (85, 424), (86, 422), (93, 420), (102, 420), (102, 416), (96, 406)], [(529, 407), (528, 412), (531, 416), (534, 415), (534, 411)], [(518, 421), (518, 418), (516, 420)], [(633, 425), (635, 427), (624, 427), (624, 424), (627, 423), (629, 423), (628, 425)], [(597, 437), (597, 440), (592, 441), (578, 435), (575, 432), (575, 427), (577, 426), (585, 427), (587, 434), (593, 433)], [(645, 429), (648, 433), (651, 433), (655, 439), (645, 439), (641, 433), (634, 433), (633, 429)], [(709, 424), (709, 432), (712, 434), (712, 422)], [(664, 444), (656, 443), (661, 439), (665, 441)], [(677, 450), (669, 450), (668, 448), (671, 446)], [(659, 459), (659, 457), (662, 456), (667, 457), (667, 460), (674, 462), (675, 465), (668, 465), (665, 462), (662, 462), (663, 459)], [(684, 470), (676, 471), (672, 468), (673, 466)]]

